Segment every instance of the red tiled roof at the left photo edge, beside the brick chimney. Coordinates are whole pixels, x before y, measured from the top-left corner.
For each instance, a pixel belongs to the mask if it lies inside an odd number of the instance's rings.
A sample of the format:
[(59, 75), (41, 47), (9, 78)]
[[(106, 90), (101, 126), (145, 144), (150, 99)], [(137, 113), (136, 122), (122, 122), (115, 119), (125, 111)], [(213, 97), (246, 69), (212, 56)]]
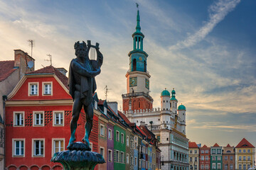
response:
[(16, 69), (14, 69), (14, 61), (1, 61), (0, 62), (0, 81), (4, 81), (13, 73)]

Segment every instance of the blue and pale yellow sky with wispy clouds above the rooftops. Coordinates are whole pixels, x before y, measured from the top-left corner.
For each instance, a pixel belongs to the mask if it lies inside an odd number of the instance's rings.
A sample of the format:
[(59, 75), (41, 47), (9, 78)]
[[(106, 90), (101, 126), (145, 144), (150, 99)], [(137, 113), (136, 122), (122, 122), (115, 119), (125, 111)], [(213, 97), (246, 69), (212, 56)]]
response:
[(78, 40), (100, 43), (104, 55), (97, 94), (122, 107), (132, 33), (139, 4), (150, 95), (160, 107), (165, 88), (186, 106), (189, 140), (232, 146), (245, 137), (256, 146), (256, 1), (247, 0), (0, 0), (0, 60), (14, 50), (31, 55), (36, 69), (68, 70)]

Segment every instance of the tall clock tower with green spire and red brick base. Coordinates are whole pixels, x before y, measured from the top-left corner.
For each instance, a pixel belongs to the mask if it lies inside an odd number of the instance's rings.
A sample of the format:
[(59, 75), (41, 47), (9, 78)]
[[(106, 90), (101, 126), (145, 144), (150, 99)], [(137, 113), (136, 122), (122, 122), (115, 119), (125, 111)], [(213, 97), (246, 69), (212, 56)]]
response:
[(129, 52), (129, 70), (127, 77), (127, 94), (122, 94), (123, 111), (152, 108), (153, 98), (149, 96), (149, 72), (146, 71), (148, 55), (143, 50), (144, 35), (141, 32), (139, 9), (137, 11), (136, 31), (132, 34), (133, 50)]

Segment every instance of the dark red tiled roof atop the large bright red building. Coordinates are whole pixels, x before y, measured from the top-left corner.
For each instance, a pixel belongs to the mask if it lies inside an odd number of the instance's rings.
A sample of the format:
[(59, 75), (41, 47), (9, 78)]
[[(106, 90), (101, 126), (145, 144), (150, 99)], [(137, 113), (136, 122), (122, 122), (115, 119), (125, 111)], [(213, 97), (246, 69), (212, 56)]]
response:
[(68, 87), (68, 77), (66, 77), (64, 74), (62, 74), (58, 69), (56, 69), (53, 66), (43, 67), (42, 69), (38, 69), (36, 71), (27, 73), (26, 75), (31, 74), (55, 74), (58, 79), (60, 79), (61, 82), (63, 82), (64, 86), (69, 89)]

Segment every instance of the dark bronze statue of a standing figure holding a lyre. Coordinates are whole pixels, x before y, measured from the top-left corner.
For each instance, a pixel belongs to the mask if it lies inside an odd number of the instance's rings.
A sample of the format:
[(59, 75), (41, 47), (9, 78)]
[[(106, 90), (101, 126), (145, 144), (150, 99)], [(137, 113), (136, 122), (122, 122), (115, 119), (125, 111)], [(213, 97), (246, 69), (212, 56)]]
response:
[[(78, 126), (78, 118), (82, 106), (86, 114), (85, 123), (85, 137), (82, 142), (90, 149), (89, 136), (92, 130), (93, 106), (92, 94), (96, 90), (95, 76), (100, 74), (100, 67), (103, 62), (103, 55), (99, 50), (99, 43), (91, 45), (90, 40), (87, 40), (87, 45), (84, 41), (82, 43), (75, 42), (75, 55), (77, 58), (70, 62), (68, 83), (69, 92), (73, 98), (72, 119), (70, 122), (70, 141), (68, 147), (71, 147), (75, 141), (75, 130)], [(89, 50), (90, 47), (95, 47), (97, 52), (97, 60), (90, 60)]]

